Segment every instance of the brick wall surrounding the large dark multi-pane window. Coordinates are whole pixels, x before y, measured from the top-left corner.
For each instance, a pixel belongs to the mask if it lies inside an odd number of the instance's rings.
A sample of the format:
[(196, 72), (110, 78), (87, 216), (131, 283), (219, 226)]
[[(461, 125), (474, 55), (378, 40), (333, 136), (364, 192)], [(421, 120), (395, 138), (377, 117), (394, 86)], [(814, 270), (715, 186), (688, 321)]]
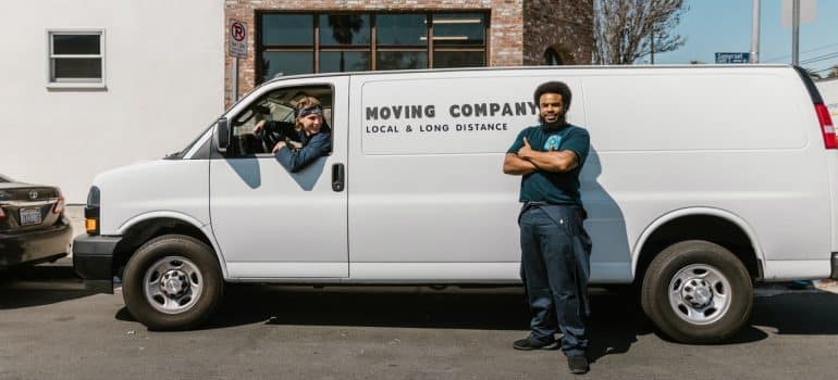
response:
[[(590, 62), (590, 27), (584, 25), (584, 17), (575, 14), (578, 3), (591, 0), (226, 0), (224, 28), (230, 18), (247, 23), (248, 58), (239, 61), (239, 94), (251, 90), (256, 85), (256, 12), (273, 11), (445, 11), (475, 10), (490, 12), (490, 33), (488, 36), (490, 66), (519, 66), (539, 64), (544, 49), (551, 45), (567, 47), (575, 56), (587, 56), (577, 62)], [(558, 8), (559, 17), (550, 17)], [(525, 9), (529, 17), (525, 16)], [(543, 24), (542, 24), (543, 23)], [(538, 25), (533, 25), (538, 24)], [(525, 25), (528, 25), (525, 30)], [(589, 22), (590, 25), (590, 22)], [(584, 30), (588, 30), (587, 34)], [(225, 38), (226, 35), (225, 34)], [(529, 36), (529, 37), (528, 37)], [(587, 39), (586, 39), (587, 38)], [(580, 41), (583, 41), (580, 42)], [(225, 47), (227, 41), (224, 41)], [(579, 45), (584, 45), (580, 47)], [(586, 55), (587, 54), (587, 55)], [(232, 60), (225, 58), (226, 104), (231, 104)]]

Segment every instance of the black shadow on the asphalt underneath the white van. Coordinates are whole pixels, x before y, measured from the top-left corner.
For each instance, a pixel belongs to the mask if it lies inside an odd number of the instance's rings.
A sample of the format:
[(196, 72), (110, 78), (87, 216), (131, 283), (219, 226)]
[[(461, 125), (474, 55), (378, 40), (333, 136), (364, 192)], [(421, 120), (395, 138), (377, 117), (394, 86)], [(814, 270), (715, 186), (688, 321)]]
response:
[[(434, 293), (429, 289), (422, 292), (410, 289), (300, 291), (284, 287), (230, 286), (219, 309), (202, 328), (267, 324), (517, 330), (521, 337), (527, 334), (530, 317), (522, 294)], [(627, 353), (638, 337), (657, 333), (632, 296), (600, 292), (591, 296), (591, 304), (589, 356), (593, 360)], [(833, 321), (836, 314), (838, 294), (829, 292), (810, 290), (759, 296), (754, 299), (750, 324), (723, 344), (756, 342), (772, 333), (838, 334), (838, 324)], [(132, 320), (124, 308), (116, 318)]]

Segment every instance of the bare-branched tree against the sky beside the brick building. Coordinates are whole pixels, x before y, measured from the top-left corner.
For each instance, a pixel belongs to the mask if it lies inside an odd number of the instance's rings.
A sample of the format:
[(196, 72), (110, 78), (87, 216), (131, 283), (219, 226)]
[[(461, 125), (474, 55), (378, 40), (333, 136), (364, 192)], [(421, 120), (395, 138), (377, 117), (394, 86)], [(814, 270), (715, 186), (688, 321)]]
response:
[[(592, 0), (593, 61), (631, 64), (654, 52), (680, 48), (686, 38), (674, 31), (685, 0)], [(654, 41), (653, 41), (654, 39)]]

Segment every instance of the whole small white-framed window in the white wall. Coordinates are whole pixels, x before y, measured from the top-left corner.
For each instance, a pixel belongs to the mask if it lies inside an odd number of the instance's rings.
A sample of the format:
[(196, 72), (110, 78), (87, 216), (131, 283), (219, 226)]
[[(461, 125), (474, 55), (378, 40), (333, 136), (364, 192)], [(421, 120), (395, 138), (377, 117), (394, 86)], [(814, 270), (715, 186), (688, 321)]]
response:
[(104, 85), (103, 30), (49, 30), (48, 45), (49, 85)]

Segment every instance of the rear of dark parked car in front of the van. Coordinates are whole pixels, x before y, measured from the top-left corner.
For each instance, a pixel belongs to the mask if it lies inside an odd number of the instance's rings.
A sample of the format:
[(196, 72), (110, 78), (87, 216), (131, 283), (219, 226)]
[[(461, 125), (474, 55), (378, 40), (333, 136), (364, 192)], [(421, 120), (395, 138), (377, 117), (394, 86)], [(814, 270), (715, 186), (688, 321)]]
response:
[(0, 268), (66, 256), (72, 237), (59, 188), (0, 175)]

